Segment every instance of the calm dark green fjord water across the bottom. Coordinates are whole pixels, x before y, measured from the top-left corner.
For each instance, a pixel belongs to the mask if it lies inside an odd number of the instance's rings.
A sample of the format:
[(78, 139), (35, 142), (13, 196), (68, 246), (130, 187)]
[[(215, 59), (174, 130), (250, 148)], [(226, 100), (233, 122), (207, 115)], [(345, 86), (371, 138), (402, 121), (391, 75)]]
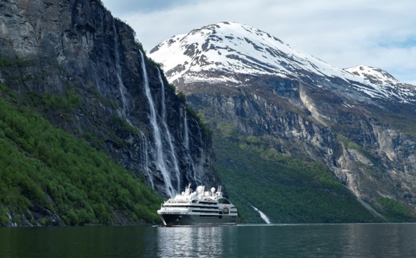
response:
[(0, 257), (415, 257), (416, 224), (0, 228)]

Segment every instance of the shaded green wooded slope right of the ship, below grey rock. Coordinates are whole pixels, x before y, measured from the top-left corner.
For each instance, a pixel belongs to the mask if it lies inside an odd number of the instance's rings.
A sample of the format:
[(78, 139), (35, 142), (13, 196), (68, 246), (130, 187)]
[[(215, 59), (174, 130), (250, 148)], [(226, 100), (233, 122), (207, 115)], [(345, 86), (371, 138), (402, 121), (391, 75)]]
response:
[(263, 222), (251, 205), (273, 223), (380, 221), (324, 166), (285, 157), (266, 148), (258, 137), (232, 137), (229, 130), (217, 132), (214, 149), (218, 174), (242, 221)]

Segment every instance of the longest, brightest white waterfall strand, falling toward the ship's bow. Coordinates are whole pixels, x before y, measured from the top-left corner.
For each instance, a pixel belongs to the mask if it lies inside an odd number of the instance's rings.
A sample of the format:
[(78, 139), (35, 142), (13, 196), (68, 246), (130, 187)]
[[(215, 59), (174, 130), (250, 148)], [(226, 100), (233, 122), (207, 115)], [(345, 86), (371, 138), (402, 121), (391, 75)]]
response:
[(153, 102), (152, 94), (150, 94), (150, 87), (149, 81), (146, 71), (146, 64), (144, 62), (144, 55), (140, 51), (141, 57), (141, 69), (143, 70), (143, 78), (144, 78), (144, 87), (146, 92), (146, 97), (148, 98), (149, 107), (150, 107), (150, 123), (153, 127), (153, 138), (155, 138), (155, 161), (157, 168), (159, 171), (162, 172), (164, 182), (165, 182), (165, 189), (166, 193), (169, 196), (175, 196), (175, 189), (173, 189), (171, 177), (168, 173), (168, 169), (166, 169), (166, 159), (163, 153), (163, 146), (162, 146), (162, 136), (160, 134), (160, 128), (157, 125), (157, 117), (156, 117), (156, 110), (155, 110), (155, 103)]

